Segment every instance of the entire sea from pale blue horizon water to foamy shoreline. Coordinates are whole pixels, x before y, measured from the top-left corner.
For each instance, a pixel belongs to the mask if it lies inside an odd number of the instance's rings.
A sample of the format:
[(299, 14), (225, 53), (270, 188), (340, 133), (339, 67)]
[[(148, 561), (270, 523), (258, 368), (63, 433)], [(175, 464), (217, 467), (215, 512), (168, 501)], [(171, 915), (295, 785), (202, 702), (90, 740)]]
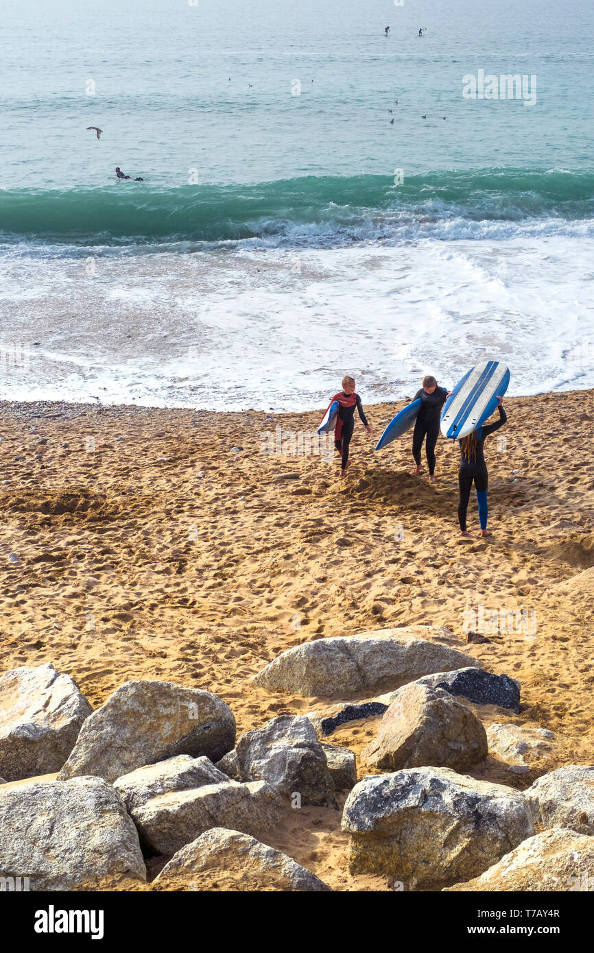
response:
[(0, 395), (594, 386), (593, 40), (588, 0), (11, 5)]

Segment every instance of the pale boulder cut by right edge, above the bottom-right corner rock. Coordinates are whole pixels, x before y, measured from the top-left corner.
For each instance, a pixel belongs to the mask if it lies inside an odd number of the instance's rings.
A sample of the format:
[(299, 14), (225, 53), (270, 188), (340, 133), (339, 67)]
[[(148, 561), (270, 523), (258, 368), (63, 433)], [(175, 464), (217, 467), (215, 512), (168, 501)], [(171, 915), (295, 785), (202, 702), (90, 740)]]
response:
[[(523, 792), (535, 823), (594, 835), (594, 766), (568, 764)], [(594, 871), (593, 871), (594, 874)]]

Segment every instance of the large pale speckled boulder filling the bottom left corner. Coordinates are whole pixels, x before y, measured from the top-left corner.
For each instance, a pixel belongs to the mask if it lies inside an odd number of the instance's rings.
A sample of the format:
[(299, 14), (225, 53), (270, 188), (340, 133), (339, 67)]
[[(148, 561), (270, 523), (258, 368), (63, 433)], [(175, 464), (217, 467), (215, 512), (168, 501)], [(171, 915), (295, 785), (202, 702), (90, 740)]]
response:
[(0, 790), (0, 876), (31, 890), (146, 880), (138, 834), (100, 778), (31, 781)]

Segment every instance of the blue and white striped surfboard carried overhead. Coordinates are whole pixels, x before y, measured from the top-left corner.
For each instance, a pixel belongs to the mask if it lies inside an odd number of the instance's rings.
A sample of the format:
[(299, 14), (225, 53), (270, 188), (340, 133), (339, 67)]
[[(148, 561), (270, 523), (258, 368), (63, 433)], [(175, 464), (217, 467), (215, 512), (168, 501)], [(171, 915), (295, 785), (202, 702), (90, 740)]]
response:
[(478, 430), (495, 411), (508, 384), (509, 370), (500, 361), (485, 360), (473, 367), (445, 401), (440, 422), (443, 436), (460, 440)]

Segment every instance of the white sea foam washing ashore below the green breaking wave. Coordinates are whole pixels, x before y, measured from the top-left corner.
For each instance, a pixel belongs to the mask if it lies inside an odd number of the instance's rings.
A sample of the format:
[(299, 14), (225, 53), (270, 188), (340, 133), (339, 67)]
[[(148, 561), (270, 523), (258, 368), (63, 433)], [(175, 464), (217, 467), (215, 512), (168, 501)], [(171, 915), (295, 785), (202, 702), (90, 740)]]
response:
[[(453, 385), (485, 356), (509, 394), (594, 386), (594, 238), (4, 258), (8, 399), (215, 410), (367, 402)], [(92, 271), (90, 272), (90, 268)], [(35, 343), (38, 342), (38, 343)], [(27, 367), (10, 348), (27, 347)]]

